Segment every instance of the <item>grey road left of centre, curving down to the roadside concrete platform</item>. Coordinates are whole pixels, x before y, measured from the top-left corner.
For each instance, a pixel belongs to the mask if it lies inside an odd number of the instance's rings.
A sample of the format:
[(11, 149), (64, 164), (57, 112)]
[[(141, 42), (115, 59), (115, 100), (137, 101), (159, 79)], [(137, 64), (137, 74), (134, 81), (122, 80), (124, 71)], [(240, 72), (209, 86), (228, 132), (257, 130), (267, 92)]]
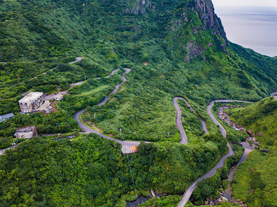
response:
[[(113, 90), (113, 92), (111, 92), (111, 95), (114, 94), (115, 92), (117, 92), (118, 88), (120, 88), (120, 86), (122, 86), (122, 84), (124, 84), (127, 79), (125, 77), (126, 73), (130, 72), (131, 69), (128, 69), (128, 68), (124, 68), (126, 71), (122, 74), (122, 83), (118, 84), (117, 86), (115, 86), (115, 89)], [(119, 70), (119, 69), (117, 69)], [(114, 75), (115, 72), (117, 72), (117, 70), (114, 70), (111, 75)], [(107, 77), (110, 77), (111, 75), (107, 76)], [(97, 78), (99, 79), (99, 78)], [(109, 99), (110, 96), (107, 96), (101, 103), (99, 103), (97, 106), (102, 106), (104, 103), (106, 103), (106, 101)], [(95, 133), (105, 139), (110, 139), (110, 140), (113, 140), (117, 143), (120, 143), (122, 144), (122, 152), (126, 152), (126, 153), (130, 153), (131, 152), (131, 146), (137, 146), (137, 145), (140, 145), (140, 141), (122, 141), (122, 140), (119, 140), (119, 139), (115, 139), (115, 138), (112, 138), (112, 137), (108, 137), (106, 135), (103, 135), (102, 133), (100, 132), (97, 132), (96, 130), (93, 130), (92, 128), (89, 128), (88, 126), (85, 126), (84, 124), (82, 124), (82, 121), (80, 120), (80, 115), (82, 115), (82, 113), (84, 112), (84, 109), (83, 110), (80, 110), (79, 112), (77, 112), (74, 116), (74, 118), (78, 121), (78, 124), (79, 124), (79, 127), (82, 128), (85, 133)]]

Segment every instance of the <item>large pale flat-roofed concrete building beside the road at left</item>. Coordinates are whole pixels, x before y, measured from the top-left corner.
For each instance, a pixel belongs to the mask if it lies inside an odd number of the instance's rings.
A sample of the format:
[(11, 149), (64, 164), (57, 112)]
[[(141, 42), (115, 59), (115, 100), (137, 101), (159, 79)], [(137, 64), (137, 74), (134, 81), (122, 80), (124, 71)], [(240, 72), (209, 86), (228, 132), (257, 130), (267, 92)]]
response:
[(19, 100), (21, 112), (28, 113), (37, 110), (43, 101), (43, 92), (30, 92)]

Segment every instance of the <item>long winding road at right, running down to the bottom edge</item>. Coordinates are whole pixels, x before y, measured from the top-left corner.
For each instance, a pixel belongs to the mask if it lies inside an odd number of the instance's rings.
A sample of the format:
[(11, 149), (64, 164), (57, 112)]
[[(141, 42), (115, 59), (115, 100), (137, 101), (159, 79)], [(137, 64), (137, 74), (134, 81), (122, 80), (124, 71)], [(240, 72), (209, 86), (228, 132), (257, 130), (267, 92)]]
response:
[[(253, 102), (249, 102), (249, 101), (238, 101), (238, 100), (216, 100), (216, 101), (219, 101), (219, 102), (242, 102), (242, 103), (253, 103)], [(208, 112), (208, 115), (209, 117), (213, 120), (213, 122), (220, 126), (220, 131), (223, 135), (223, 137), (226, 138), (226, 130), (225, 128), (223, 128), (223, 126), (218, 122), (218, 120), (216, 120), (215, 117), (213, 117), (213, 114), (211, 112), (211, 108), (213, 107), (213, 104), (216, 102), (216, 101), (211, 101), (211, 103), (209, 104), (209, 106), (207, 107), (207, 112)], [(183, 207), (187, 204), (187, 201), (189, 201), (189, 198), (191, 197), (193, 191), (195, 190), (196, 186), (197, 186), (197, 183), (199, 181), (202, 181), (202, 179), (207, 179), (208, 177), (212, 177), (215, 173), (216, 173), (216, 170), (218, 170), (218, 168), (222, 168), (224, 165), (225, 165), (225, 160), (232, 156), (232, 155), (235, 155), (235, 153), (233, 152), (233, 149), (231, 148), (229, 142), (227, 143), (227, 146), (228, 146), (228, 149), (229, 149), (229, 153), (227, 155), (225, 155), (224, 157), (222, 157), (220, 159), (220, 161), (218, 162), (218, 164), (216, 165), (216, 167), (214, 167), (213, 169), (211, 169), (207, 174), (203, 175), (202, 177), (198, 178), (195, 182), (193, 182), (193, 184), (191, 184), (191, 186), (189, 186), (189, 188), (186, 190), (186, 192), (184, 193), (180, 203), (178, 204), (178, 207)], [(246, 158), (245, 158), (246, 159)], [(243, 161), (245, 161), (245, 159)]]

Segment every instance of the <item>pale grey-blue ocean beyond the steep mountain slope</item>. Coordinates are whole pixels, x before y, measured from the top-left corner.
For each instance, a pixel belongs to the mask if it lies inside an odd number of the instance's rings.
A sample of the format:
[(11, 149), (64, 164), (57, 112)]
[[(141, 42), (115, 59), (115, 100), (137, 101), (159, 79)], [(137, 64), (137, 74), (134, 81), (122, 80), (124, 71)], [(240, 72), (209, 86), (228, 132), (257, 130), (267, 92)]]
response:
[(277, 8), (216, 8), (227, 38), (270, 57), (277, 56)]

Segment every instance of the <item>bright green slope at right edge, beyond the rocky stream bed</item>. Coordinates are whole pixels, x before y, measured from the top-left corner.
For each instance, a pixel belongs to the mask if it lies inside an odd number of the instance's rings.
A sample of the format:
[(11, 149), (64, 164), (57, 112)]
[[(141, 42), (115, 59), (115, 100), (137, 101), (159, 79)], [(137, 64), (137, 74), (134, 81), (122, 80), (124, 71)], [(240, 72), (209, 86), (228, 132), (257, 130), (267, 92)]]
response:
[(248, 206), (276, 206), (277, 101), (269, 97), (229, 113), (233, 121), (253, 130), (260, 148), (271, 150), (269, 153), (251, 152), (238, 167), (232, 183), (234, 197), (242, 199)]

